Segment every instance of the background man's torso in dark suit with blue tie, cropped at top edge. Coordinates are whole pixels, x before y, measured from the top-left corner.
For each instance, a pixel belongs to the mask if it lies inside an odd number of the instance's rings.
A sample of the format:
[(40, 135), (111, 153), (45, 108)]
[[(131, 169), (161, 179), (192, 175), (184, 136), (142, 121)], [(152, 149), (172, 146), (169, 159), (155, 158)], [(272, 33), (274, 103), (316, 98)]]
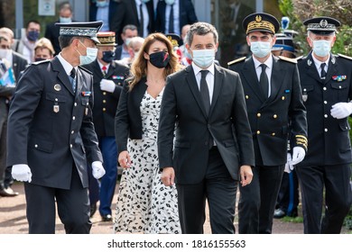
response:
[(159, 1), (156, 7), (156, 31), (181, 35), (186, 24), (198, 22), (190, 0)]

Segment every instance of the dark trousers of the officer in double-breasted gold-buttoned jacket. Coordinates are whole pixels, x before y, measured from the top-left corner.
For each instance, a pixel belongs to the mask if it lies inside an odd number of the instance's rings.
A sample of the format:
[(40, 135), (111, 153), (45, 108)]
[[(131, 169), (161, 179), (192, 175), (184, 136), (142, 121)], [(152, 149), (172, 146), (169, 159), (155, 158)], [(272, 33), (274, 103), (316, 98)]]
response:
[(255, 166), (251, 184), (239, 186), (238, 232), (272, 233), (273, 211), (283, 177), (283, 166)]

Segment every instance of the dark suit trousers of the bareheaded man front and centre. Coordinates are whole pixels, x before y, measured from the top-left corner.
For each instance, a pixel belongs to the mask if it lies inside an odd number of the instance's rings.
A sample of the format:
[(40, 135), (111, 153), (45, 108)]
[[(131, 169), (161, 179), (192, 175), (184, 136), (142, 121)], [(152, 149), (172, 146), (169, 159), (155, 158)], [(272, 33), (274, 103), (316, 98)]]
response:
[(236, 181), (227, 171), (218, 148), (211, 148), (206, 177), (199, 184), (176, 184), (183, 234), (203, 233), (208, 200), (213, 234), (234, 234)]

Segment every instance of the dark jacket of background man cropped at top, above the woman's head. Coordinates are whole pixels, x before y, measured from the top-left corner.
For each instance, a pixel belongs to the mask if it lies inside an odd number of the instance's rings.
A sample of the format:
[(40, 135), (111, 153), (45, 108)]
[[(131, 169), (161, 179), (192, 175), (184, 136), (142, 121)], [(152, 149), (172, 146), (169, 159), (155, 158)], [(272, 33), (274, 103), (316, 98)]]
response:
[[(140, 23), (138, 19), (137, 7), (135, 6), (134, 0), (121, 0), (120, 6), (121, 10), (118, 10), (118, 19), (116, 21), (117, 26), (120, 28), (120, 30), (117, 32), (117, 42), (119, 45), (122, 45), (124, 40), (121, 39), (121, 33), (125, 25), (134, 24), (139, 30)], [(152, 33), (155, 31), (153, 1), (146, 3), (146, 6), (149, 14), (148, 31), (149, 33)], [(138, 35), (143, 37), (142, 34)]]

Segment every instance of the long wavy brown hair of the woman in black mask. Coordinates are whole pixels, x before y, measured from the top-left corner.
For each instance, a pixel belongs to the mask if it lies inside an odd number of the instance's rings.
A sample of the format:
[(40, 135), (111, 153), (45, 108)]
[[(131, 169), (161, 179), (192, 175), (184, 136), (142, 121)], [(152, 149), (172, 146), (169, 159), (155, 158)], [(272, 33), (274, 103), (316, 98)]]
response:
[(171, 41), (168, 40), (168, 38), (166, 38), (166, 36), (160, 32), (152, 33), (145, 38), (144, 43), (141, 49), (139, 50), (140, 53), (138, 53), (138, 57), (134, 58), (134, 62), (132, 63), (132, 77), (129, 80), (130, 90), (132, 90), (134, 88), (134, 85), (137, 84), (144, 76), (146, 76), (148, 59), (144, 58), (144, 52), (148, 53), (148, 50), (155, 41), (161, 41), (162, 43), (164, 43), (170, 55), (169, 64), (164, 68), (165, 78), (166, 76), (171, 75), (172, 73), (178, 71), (181, 68), (178, 57), (173, 51)]

